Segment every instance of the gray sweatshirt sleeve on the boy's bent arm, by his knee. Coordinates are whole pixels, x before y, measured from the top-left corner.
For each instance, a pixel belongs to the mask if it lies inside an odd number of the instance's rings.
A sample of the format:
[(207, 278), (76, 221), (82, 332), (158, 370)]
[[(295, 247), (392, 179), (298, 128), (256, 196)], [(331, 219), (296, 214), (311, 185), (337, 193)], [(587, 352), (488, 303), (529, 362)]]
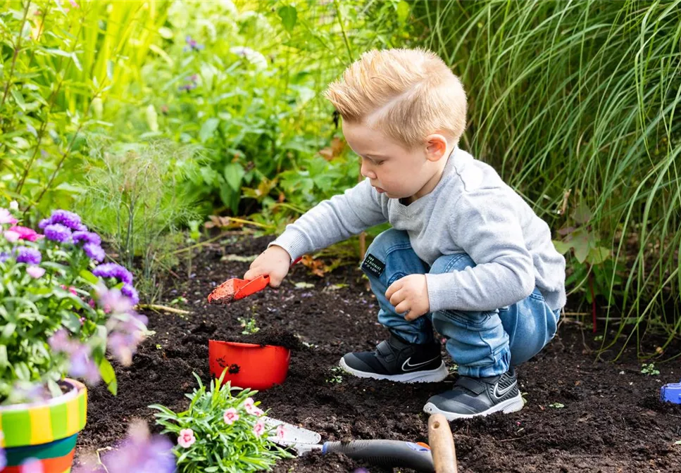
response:
[(509, 199), (482, 191), (458, 199), (449, 233), (475, 267), (426, 275), (430, 310), (494, 310), (535, 289), (535, 267)]

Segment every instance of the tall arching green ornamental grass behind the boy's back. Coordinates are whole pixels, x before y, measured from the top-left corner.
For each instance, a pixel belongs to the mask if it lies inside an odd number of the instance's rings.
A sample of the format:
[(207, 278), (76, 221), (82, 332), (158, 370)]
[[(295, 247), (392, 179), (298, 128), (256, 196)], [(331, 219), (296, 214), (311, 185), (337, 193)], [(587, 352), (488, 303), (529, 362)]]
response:
[(463, 146), (556, 227), (570, 226), (560, 210), (573, 189), (568, 207), (593, 213), (572, 235), (574, 272), (591, 264), (608, 300), (621, 291), (621, 320), (663, 329), (669, 343), (681, 329), (681, 1), (413, 8), (427, 35), (417, 44), (468, 91)]

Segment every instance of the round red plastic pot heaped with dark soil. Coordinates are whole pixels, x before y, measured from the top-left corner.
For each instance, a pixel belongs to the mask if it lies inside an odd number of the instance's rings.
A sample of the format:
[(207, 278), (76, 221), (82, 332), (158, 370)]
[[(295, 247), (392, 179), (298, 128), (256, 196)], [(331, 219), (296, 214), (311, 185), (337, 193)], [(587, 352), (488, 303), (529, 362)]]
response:
[(208, 340), (208, 365), (213, 377), (223, 371), (232, 386), (263, 391), (282, 384), (289, 371), (291, 351), (283, 346)]

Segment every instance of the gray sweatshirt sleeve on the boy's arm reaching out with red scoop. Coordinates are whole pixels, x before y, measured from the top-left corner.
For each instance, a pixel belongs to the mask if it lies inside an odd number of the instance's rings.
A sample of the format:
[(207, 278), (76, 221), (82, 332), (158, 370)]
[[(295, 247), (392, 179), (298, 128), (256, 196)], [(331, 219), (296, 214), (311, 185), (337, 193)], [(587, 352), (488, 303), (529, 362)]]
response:
[(268, 246), (281, 246), (296, 260), (384, 222), (387, 217), (380, 197), (368, 180), (364, 180), (344, 194), (318, 203), (287, 225), (284, 233)]

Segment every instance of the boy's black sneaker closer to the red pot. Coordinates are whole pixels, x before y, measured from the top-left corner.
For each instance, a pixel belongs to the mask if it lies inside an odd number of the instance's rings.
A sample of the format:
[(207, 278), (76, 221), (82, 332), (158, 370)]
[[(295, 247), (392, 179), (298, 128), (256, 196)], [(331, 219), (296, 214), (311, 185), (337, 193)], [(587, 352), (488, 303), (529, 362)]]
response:
[(394, 334), (379, 343), (375, 351), (346, 353), (339, 365), (357, 377), (402, 383), (434, 383), (449, 374), (437, 341), (416, 345)]

